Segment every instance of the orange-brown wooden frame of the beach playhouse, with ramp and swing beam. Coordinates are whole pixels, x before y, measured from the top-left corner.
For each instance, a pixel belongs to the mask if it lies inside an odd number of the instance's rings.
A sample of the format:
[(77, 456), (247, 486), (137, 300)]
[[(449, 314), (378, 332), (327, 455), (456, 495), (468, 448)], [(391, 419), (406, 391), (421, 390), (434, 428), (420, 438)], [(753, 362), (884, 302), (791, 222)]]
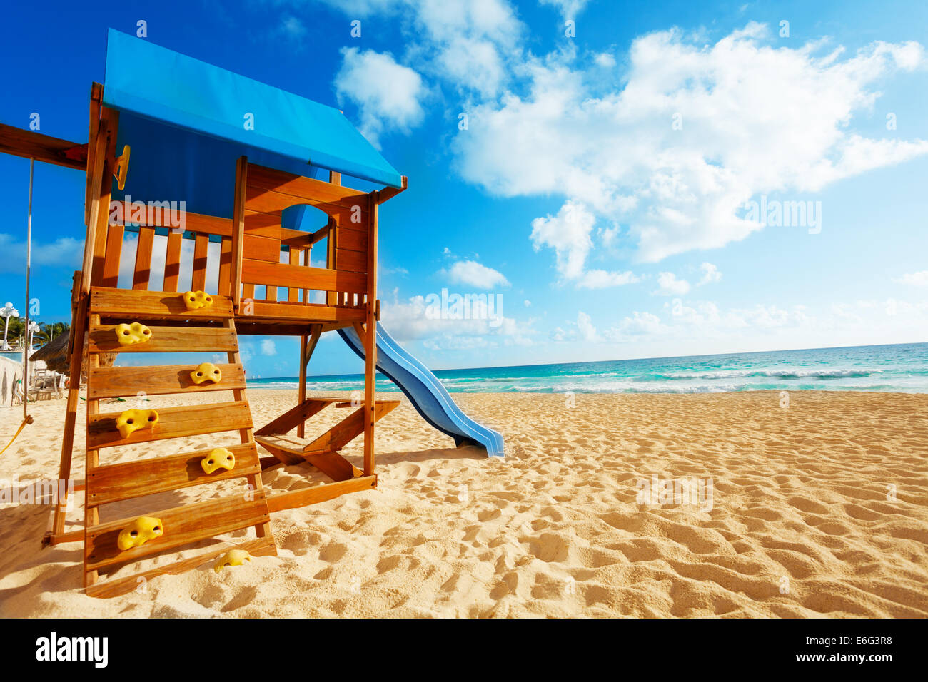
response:
[[(90, 94), (90, 125), (86, 144), (72, 143), (19, 128), (0, 125), (0, 151), (66, 166), (86, 174), (86, 235), (84, 262), (74, 273), (71, 295), (71, 358), (66, 427), (61, 444), (58, 478), (71, 479), (72, 450), (77, 426), (81, 365), (87, 343), (86, 450), (84, 527), (66, 532), (66, 512), (59, 504), (51, 514), (45, 544), (84, 543), (84, 587), (88, 595), (113, 597), (135, 589), (141, 578), (179, 573), (225, 554), (230, 547), (252, 555), (277, 554), (270, 530), (270, 514), (303, 507), (345, 493), (377, 486), (374, 453), (376, 422), (398, 400), (376, 400), (374, 393), (377, 347), (374, 329), (380, 315), (377, 300), (378, 210), (380, 204), (406, 188), (384, 187), (362, 192), (342, 186), (341, 174), (329, 172), (328, 181), (291, 174), (252, 163), (245, 155), (235, 164), (234, 204), (231, 219), (196, 212), (186, 213), (184, 230), (154, 219), (139, 222), (126, 205), (122, 220), (112, 209), (113, 189), (122, 188), (133, 174), (127, 148), (118, 148), (120, 111), (103, 103), (104, 85), (94, 84)], [(231, 174), (231, 171), (230, 171)], [(135, 199), (135, 198), (134, 198)], [(138, 197), (137, 199), (158, 199)], [(309, 205), (327, 219), (315, 229), (284, 226), (284, 212)], [(131, 219), (130, 217), (131, 216)], [(135, 235), (137, 246), (131, 282), (120, 286), (123, 246)], [(152, 246), (156, 235), (166, 237), (163, 273), (153, 271)], [(193, 241), (192, 272), (181, 272), (182, 246)], [(191, 290), (206, 291), (208, 250), (219, 244), (218, 287), (208, 293), (210, 304), (188, 309), (179, 282)], [(314, 246), (324, 244), (325, 267), (311, 264)], [(319, 255), (316, 255), (318, 261)], [(157, 259), (156, 259), (157, 260)], [(151, 290), (152, 281), (163, 282)], [(262, 297), (258, 298), (260, 294)], [(148, 339), (124, 345), (120, 325), (138, 323), (148, 328)], [(364, 343), (365, 390), (363, 405), (352, 408), (344, 398), (307, 398), (306, 366), (320, 336), (339, 328), (354, 328)], [(299, 399), (289, 412), (254, 431), (239, 353), (242, 334), (296, 336), (300, 339)], [(225, 354), (216, 365), (222, 379), (197, 383), (191, 376), (196, 365), (102, 367), (105, 353)], [(144, 355), (143, 355), (144, 357)], [(169, 407), (157, 410), (154, 424), (123, 434), (124, 414), (106, 411), (101, 401), (147, 395), (189, 395), (230, 391), (231, 402)], [(346, 417), (312, 441), (303, 438), (304, 422), (322, 409), (344, 410)], [(149, 410), (153, 411), (153, 410)], [(296, 429), (296, 436), (286, 435)], [(206, 473), (200, 464), (210, 449), (177, 452), (170, 439), (211, 433), (238, 432), (240, 444), (228, 446), (234, 467)], [(364, 438), (363, 468), (354, 466), (340, 450), (357, 436)], [(167, 441), (161, 457), (113, 463), (110, 453), (127, 444)], [(260, 444), (272, 457), (259, 457)], [(331, 483), (273, 493), (262, 483), (262, 473), (282, 465), (309, 462)], [(189, 486), (207, 486), (240, 479), (251, 495), (210, 497), (179, 507), (146, 508), (146, 516), (161, 521), (163, 533), (144, 544), (122, 549), (122, 532), (134, 518), (101, 521), (110, 505)], [(244, 485), (243, 485), (244, 488)], [(140, 505), (144, 502), (140, 502)], [(109, 515), (108, 515), (109, 516)], [(200, 543), (243, 529), (253, 537), (236, 544), (223, 542), (195, 557), (162, 561), (140, 573), (103, 579), (139, 560)]]

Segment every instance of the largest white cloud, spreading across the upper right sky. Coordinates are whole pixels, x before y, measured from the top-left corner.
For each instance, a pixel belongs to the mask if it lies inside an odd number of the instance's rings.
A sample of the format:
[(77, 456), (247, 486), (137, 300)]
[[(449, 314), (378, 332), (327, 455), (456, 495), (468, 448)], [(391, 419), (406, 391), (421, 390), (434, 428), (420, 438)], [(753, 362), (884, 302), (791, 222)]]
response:
[[(818, 192), (928, 153), (928, 140), (852, 126), (878, 85), (924, 64), (922, 46), (876, 42), (847, 57), (822, 45), (773, 46), (754, 22), (711, 45), (654, 32), (633, 42), (621, 84), (572, 50), (529, 57), (513, 71), (521, 87), (470, 109), (458, 172), (500, 196), (561, 195), (627, 224), (641, 260), (724, 246), (762, 228), (742, 210), (759, 194)], [(557, 249), (561, 275), (579, 277), (589, 232), (577, 225), (565, 244), (539, 220), (536, 247)]]

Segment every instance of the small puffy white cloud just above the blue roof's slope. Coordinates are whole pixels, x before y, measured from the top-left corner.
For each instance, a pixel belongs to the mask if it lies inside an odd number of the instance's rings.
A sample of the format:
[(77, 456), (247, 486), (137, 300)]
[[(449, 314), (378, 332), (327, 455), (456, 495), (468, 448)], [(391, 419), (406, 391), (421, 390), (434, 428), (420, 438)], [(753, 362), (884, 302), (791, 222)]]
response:
[(361, 113), (361, 132), (375, 146), (387, 127), (407, 132), (422, 121), (426, 95), (419, 73), (397, 64), (390, 53), (342, 47), (342, 68), (335, 76), (339, 102), (351, 100)]

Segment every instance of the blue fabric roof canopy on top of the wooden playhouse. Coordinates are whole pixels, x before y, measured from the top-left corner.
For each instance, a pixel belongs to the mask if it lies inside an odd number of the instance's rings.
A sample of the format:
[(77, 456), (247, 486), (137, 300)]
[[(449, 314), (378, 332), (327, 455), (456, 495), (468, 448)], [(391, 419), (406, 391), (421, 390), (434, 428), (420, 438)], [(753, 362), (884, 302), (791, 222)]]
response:
[(120, 111), (117, 144), (132, 147), (125, 193), (136, 199), (185, 199), (188, 211), (228, 217), (243, 154), (294, 174), (324, 168), (402, 187), (338, 109), (113, 29), (103, 104)]

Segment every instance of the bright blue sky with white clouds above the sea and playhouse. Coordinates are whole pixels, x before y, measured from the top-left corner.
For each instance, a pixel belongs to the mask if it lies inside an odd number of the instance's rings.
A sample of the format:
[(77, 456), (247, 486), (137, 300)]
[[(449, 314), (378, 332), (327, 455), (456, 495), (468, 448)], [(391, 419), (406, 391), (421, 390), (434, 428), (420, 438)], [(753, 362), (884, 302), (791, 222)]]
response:
[[(924, 3), (13, 6), (0, 120), (85, 141), (107, 29), (139, 19), (338, 106), (409, 177), (380, 213), (382, 321), (431, 367), (928, 341)], [(0, 156), (0, 178), (0, 299), (21, 310), (28, 161)], [(69, 318), (83, 196), (36, 165), (40, 321)], [(759, 225), (762, 198), (809, 212)], [(502, 319), (433, 318), (443, 289), (498, 294)], [(295, 340), (245, 343), (251, 375), (296, 374)], [(311, 365), (359, 370), (333, 334)]]

